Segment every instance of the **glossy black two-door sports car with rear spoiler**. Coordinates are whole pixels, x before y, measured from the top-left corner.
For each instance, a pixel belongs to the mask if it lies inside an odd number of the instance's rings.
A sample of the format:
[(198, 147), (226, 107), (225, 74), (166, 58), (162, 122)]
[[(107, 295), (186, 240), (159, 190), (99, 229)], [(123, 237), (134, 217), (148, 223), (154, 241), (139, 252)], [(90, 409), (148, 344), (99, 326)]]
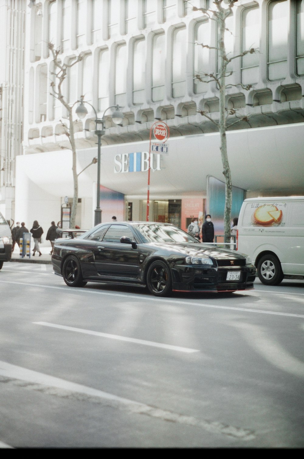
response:
[(99, 224), (75, 239), (57, 239), (52, 263), (71, 287), (88, 281), (147, 286), (158, 297), (172, 291), (247, 290), (255, 280), (246, 255), (201, 244), (166, 223)]

